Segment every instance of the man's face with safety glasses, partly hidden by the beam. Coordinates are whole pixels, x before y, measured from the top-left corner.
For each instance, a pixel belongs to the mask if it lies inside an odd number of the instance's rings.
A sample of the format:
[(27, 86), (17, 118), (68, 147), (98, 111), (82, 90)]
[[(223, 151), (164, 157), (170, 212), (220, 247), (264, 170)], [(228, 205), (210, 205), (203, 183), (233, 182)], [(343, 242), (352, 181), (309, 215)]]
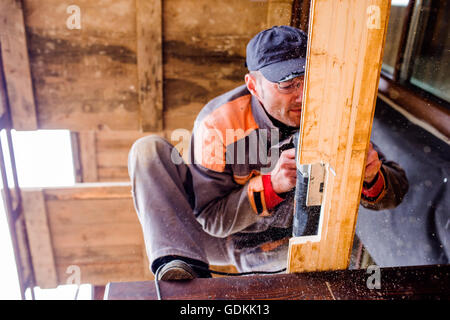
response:
[[(261, 104), (272, 117), (292, 127), (300, 126), (303, 95), (303, 76), (281, 83), (273, 83), (261, 73), (247, 75), (254, 80), (254, 90)], [(247, 78), (247, 87), (251, 89), (252, 79)]]

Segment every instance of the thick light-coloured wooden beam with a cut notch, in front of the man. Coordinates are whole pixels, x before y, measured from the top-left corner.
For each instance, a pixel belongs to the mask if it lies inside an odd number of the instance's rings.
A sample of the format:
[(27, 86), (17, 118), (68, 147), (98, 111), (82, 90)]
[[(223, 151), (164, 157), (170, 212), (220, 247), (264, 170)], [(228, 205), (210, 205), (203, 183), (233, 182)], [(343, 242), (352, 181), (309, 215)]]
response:
[(319, 234), (290, 240), (289, 272), (348, 266), (389, 9), (389, 0), (311, 3), (298, 160), (325, 163), (327, 174)]

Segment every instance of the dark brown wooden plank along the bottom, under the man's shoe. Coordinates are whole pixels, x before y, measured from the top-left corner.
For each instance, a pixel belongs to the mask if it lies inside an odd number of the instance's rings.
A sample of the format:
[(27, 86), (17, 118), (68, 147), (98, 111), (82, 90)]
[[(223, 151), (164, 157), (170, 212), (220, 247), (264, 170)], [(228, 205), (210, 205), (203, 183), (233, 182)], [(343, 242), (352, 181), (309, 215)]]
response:
[[(380, 289), (367, 283), (373, 272), (340, 270), (270, 276), (160, 281), (163, 299), (180, 300), (414, 300), (450, 298), (450, 266), (380, 268)], [(109, 283), (109, 300), (157, 299), (153, 282)], [(178, 311), (177, 311), (178, 312)]]

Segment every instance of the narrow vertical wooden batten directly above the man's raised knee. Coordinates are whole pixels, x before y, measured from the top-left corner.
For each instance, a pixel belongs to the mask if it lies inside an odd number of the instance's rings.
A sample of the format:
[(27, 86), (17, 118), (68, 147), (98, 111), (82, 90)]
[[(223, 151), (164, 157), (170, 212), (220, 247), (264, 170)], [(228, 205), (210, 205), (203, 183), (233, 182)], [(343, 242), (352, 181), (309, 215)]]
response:
[(141, 130), (163, 129), (162, 3), (136, 0)]

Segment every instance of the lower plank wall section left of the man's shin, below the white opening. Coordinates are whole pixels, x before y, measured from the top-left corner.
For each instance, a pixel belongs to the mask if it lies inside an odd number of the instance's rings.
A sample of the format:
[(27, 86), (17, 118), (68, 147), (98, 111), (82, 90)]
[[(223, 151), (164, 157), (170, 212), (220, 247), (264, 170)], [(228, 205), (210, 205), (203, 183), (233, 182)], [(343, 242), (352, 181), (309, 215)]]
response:
[(71, 266), (79, 268), (81, 283), (152, 279), (130, 188), (96, 183), (22, 190), (38, 286), (66, 284)]

